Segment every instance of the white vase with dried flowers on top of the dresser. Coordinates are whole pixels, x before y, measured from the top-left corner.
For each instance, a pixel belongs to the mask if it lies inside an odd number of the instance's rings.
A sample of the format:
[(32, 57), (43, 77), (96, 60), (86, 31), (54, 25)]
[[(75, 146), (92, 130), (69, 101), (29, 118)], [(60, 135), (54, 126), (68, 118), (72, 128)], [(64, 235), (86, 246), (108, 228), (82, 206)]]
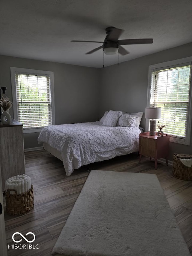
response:
[(8, 113), (9, 109), (12, 107), (12, 102), (10, 102), (9, 98), (1, 98), (0, 99), (0, 107), (3, 109), (3, 113), (1, 115), (1, 122), (4, 125), (9, 125), (11, 123), (11, 116)]

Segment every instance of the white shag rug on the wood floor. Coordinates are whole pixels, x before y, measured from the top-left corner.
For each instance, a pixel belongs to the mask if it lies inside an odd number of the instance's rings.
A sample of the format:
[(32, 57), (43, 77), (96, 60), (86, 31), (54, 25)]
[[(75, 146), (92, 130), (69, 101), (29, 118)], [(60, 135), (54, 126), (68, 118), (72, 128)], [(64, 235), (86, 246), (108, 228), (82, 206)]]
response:
[(155, 174), (92, 170), (53, 248), (66, 256), (190, 256)]

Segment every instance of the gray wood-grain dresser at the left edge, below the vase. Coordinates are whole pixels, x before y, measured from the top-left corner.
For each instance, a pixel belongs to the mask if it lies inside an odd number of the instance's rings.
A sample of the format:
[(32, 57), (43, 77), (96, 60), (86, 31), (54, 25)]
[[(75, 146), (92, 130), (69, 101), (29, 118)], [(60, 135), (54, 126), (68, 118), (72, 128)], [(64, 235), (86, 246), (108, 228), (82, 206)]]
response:
[(22, 127), (23, 125), (14, 119), (10, 125), (0, 123), (0, 163), (3, 191), (8, 178), (25, 174)]

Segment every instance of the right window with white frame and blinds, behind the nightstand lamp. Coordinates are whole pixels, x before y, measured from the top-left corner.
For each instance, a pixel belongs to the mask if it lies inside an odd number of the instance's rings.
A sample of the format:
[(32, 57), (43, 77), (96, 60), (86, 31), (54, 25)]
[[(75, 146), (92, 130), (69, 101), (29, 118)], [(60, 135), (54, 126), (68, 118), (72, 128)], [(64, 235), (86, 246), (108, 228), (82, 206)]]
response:
[(167, 124), (163, 131), (170, 134), (170, 141), (187, 145), (190, 144), (192, 114), (191, 61), (189, 57), (149, 66), (147, 104), (161, 107), (159, 122)]

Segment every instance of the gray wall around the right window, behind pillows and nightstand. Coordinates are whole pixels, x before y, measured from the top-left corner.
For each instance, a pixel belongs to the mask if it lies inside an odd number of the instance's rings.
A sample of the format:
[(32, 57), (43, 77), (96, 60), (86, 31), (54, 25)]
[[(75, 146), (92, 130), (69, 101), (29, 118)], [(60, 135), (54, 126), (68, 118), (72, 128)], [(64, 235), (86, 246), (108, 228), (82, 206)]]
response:
[[(145, 112), (149, 65), (189, 56), (192, 56), (192, 43), (101, 69), (99, 115), (105, 110)], [(141, 126), (145, 128), (144, 117)], [(190, 146), (170, 143), (169, 159), (172, 160), (173, 153), (192, 154), (191, 145), (192, 134)]]

